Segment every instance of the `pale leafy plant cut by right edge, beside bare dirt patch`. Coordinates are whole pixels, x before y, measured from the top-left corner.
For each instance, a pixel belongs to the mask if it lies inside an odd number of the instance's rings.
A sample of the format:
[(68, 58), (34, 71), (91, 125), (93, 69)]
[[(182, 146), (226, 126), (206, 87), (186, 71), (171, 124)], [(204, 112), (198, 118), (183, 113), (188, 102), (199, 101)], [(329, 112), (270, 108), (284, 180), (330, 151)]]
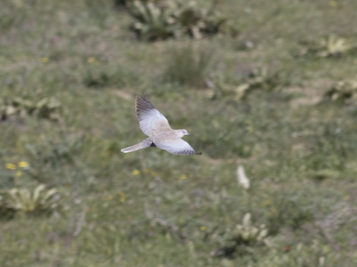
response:
[(336, 82), (324, 95), (322, 101), (346, 103), (357, 95), (357, 80), (346, 79)]

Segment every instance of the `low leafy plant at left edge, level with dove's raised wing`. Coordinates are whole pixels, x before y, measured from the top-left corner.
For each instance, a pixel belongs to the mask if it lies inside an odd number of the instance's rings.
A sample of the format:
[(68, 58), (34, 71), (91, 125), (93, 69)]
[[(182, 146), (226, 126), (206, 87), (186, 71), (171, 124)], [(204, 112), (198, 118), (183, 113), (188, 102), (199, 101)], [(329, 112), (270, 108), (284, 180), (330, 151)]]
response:
[(41, 119), (57, 120), (62, 114), (62, 105), (54, 98), (44, 98), (34, 102), (24, 98), (0, 100), (1, 119), (6, 120), (11, 115), (37, 116)]

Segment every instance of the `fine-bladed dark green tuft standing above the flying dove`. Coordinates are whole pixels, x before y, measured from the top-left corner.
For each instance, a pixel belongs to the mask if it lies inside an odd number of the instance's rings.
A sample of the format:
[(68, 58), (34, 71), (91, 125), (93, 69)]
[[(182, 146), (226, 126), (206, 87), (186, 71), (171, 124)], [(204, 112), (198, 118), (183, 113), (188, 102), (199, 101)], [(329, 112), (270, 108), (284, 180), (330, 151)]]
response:
[(193, 46), (174, 49), (164, 73), (165, 79), (181, 85), (203, 87), (213, 63), (213, 52)]

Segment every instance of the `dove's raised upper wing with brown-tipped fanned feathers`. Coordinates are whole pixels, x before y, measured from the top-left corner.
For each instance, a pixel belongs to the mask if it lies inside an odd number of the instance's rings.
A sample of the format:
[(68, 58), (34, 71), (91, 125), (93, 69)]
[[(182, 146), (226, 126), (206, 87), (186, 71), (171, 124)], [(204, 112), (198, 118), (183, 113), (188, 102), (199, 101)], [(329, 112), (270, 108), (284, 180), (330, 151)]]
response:
[(136, 116), (139, 120), (140, 129), (147, 135), (153, 136), (158, 133), (171, 130), (169, 122), (159, 110), (151, 104), (149, 98), (144, 94), (136, 96)]

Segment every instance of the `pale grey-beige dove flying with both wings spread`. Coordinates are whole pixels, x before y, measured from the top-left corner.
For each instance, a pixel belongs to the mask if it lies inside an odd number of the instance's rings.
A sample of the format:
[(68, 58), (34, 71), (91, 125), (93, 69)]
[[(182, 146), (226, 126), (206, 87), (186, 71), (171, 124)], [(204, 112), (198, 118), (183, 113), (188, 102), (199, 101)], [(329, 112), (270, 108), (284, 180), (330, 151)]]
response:
[(186, 141), (181, 139), (185, 135), (190, 135), (185, 129), (171, 129), (165, 116), (155, 109), (145, 94), (136, 96), (135, 110), (140, 129), (149, 138), (134, 146), (122, 149), (122, 152), (132, 152), (145, 147), (159, 147), (175, 155), (202, 154), (202, 152), (196, 153)]

